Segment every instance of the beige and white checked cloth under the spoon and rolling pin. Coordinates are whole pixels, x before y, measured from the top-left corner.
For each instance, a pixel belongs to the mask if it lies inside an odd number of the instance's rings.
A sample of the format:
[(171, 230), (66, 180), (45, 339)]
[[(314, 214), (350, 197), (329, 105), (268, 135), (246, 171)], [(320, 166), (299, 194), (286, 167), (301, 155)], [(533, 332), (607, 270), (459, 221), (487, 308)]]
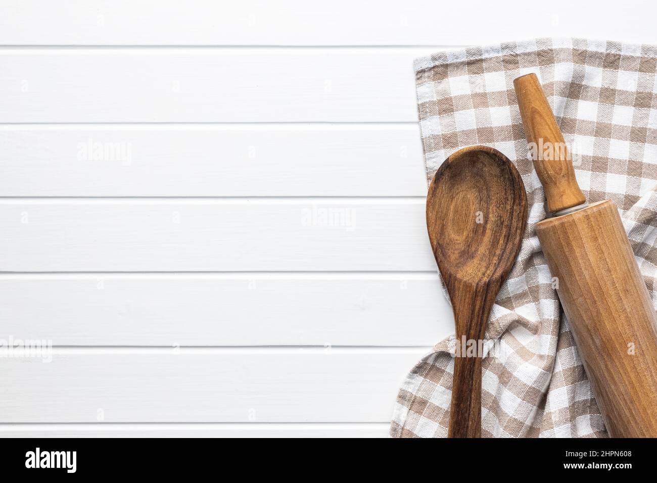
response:
[[(438, 53), (415, 62), (427, 178), (455, 150), (488, 145), (522, 175), (529, 219), (489, 320), (482, 436), (606, 437), (535, 233), (543, 188), (528, 160), (512, 81), (535, 72), (570, 145), (588, 202), (614, 200), (648, 290), (657, 288), (657, 47), (537, 39)], [(447, 436), (453, 336), (407, 376), (390, 434)], [(452, 346), (453, 350), (453, 346)], [(457, 411), (459, 408), (455, 408)]]

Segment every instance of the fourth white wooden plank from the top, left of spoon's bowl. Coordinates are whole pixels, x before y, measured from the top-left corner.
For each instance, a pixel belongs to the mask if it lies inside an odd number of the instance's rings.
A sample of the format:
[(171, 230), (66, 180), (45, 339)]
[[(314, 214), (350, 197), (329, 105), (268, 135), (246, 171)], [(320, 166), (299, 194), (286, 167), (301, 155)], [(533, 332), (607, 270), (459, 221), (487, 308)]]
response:
[(0, 271), (434, 271), (424, 198), (7, 198)]

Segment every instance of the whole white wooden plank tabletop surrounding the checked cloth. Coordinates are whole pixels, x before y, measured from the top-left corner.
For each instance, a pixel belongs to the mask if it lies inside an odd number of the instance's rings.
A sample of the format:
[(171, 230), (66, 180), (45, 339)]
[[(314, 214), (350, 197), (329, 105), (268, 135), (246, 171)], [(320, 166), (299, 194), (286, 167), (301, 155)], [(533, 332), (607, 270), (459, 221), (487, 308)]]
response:
[[(412, 60), (657, 43), (557, 0), (0, 1), (0, 436), (385, 436), (452, 331)], [(29, 423), (29, 424), (28, 424)]]

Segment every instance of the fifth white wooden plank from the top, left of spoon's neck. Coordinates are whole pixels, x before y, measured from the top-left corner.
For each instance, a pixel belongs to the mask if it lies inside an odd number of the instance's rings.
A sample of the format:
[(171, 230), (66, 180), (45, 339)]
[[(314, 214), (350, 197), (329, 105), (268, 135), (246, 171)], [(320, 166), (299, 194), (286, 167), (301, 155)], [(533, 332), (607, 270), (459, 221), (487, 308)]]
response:
[(57, 346), (431, 346), (432, 273), (0, 275), (0, 339)]

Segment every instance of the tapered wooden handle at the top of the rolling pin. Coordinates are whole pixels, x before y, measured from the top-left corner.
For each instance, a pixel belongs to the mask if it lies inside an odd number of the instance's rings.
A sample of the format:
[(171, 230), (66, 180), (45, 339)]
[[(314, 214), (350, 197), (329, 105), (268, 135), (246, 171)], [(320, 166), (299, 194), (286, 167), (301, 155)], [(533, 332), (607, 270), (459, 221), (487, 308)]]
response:
[(575, 177), (570, 151), (536, 74), (513, 81), (533, 166), (541, 179), (547, 209), (558, 212), (585, 202)]

